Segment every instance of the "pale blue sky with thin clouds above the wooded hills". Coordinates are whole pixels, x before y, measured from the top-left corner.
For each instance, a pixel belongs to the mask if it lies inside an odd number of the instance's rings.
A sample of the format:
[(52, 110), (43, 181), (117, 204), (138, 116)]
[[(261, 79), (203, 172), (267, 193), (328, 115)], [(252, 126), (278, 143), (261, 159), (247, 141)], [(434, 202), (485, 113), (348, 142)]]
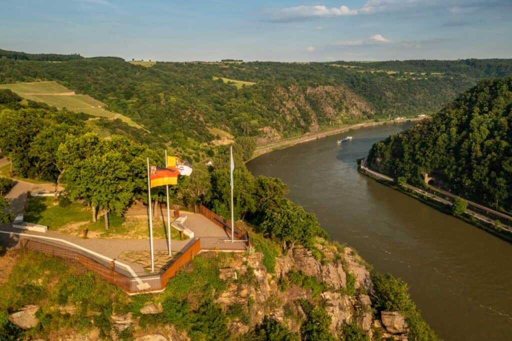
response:
[(0, 0), (0, 49), (131, 60), (512, 58), (512, 0)]

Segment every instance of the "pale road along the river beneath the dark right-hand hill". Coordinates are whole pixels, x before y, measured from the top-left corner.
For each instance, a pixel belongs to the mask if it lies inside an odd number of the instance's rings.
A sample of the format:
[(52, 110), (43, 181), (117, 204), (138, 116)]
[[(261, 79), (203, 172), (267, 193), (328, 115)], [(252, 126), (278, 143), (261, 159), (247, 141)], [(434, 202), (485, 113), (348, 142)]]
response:
[[(368, 168), (368, 166), (367, 166), (367, 162), (366, 162), (366, 161), (367, 161), (367, 160), (366, 160), (366, 158), (365, 158), (365, 159), (363, 159), (363, 160), (361, 161), (361, 168), (362, 168), (362, 169), (364, 169), (364, 170), (365, 170), (365, 172), (368, 172), (368, 173), (370, 173), (370, 174), (374, 175), (375, 177), (377, 177), (377, 178), (379, 178), (379, 179), (388, 180), (388, 181), (391, 181), (391, 182), (394, 182), (394, 181), (395, 181), (393, 178), (391, 178), (391, 177), (389, 177), (389, 176), (387, 176), (387, 175), (384, 175), (384, 174), (381, 174), (381, 173), (378, 173), (378, 172), (372, 171), (372, 169)], [(445, 205), (452, 206), (452, 204), (453, 204), (451, 201), (449, 201), (449, 200), (445, 200), (445, 199), (443, 199), (443, 198), (441, 198), (441, 197), (439, 197), (439, 196), (436, 196), (435, 194), (432, 194), (432, 193), (429, 193), (429, 192), (427, 192), (427, 191), (425, 191), (425, 190), (422, 190), (421, 188), (418, 188), (418, 187), (415, 187), (415, 186), (411, 186), (411, 185), (409, 185), (409, 184), (402, 184), (402, 186), (403, 186), (403, 187), (406, 187), (406, 188), (408, 188), (408, 189), (410, 189), (410, 190), (412, 190), (412, 191), (414, 191), (414, 192), (415, 192), (415, 193), (417, 193), (417, 194), (420, 194), (420, 195), (423, 195), (423, 196), (429, 197), (429, 198), (431, 198), (431, 199), (433, 199), (433, 200), (435, 200), (435, 201), (437, 201), (437, 202), (443, 203), (443, 204), (445, 204)], [(432, 187), (432, 186), (430, 186), (430, 187)], [(436, 191), (439, 191), (439, 192), (440, 192), (440, 193), (442, 193), (443, 195), (446, 195), (446, 196), (448, 196), (448, 197), (450, 197), (450, 198), (456, 198), (456, 196), (455, 196), (455, 195), (453, 195), (453, 194), (451, 194), (451, 193), (449, 193), (449, 192), (446, 192), (446, 191), (444, 191), (444, 190), (442, 190), (442, 189), (438, 189), (437, 187), (433, 187), (433, 189), (434, 189), (434, 190), (436, 190)], [(464, 199), (464, 200), (465, 200), (465, 199)], [(490, 209), (490, 208), (488, 208), (488, 207), (485, 207), (485, 206), (479, 205), (479, 204), (474, 203), (474, 202), (471, 202), (471, 201), (468, 201), (468, 204), (473, 205), (473, 206), (475, 206), (475, 207), (477, 207), (477, 208), (479, 208), (479, 209), (483, 209), (483, 210), (485, 210), (485, 211), (489, 211), (489, 212), (492, 212), (493, 214), (498, 214), (498, 215), (499, 215), (499, 216), (501, 216), (501, 217), (504, 217), (504, 218), (507, 218), (507, 219), (511, 219), (511, 220), (512, 220), (512, 218), (511, 218), (511, 217), (509, 217), (509, 216), (507, 216), (507, 215), (504, 215), (504, 214), (500, 214), (500, 212), (497, 212), (497, 211), (495, 211), (495, 210), (492, 210), (492, 209)], [(468, 215), (470, 215), (470, 216), (474, 217), (475, 219), (478, 219), (478, 220), (480, 220), (480, 221), (484, 222), (484, 223), (490, 223), (490, 224), (493, 224), (493, 220), (492, 220), (491, 218), (486, 217), (486, 216), (481, 215), (481, 214), (478, 214), (477, 212), (475, 212), (475, 211), (473, 211), (473, 210), (471, 210), (471, 209), (466, 209), (464, 212), (465, 212), (466, 214), (468, 214)], [(503, 228), (504, 230), (512, 231), (512, 227), (510, 227), (510, 226), (501, 226), (501, 228)]]

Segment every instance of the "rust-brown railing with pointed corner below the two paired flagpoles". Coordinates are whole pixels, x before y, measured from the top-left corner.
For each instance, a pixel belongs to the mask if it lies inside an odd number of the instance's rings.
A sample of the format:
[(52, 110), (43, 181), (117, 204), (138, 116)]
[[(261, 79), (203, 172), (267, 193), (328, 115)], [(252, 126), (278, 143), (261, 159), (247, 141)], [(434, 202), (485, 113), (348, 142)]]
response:
[(47, 241), (36, 241), (34, 239), (22, 239), (20, 246), (41, 253), (54, 255), (63, 259), (71, 259), (79, 262), (87, 269), (96, 272), (104, 280), (124, 289), (129, 293), (141, 293), (147, 291), (162, 290), (170, 279), (172, 279), (179, 269), (187, 264), (196, 254), (201, 251), (200, 239), (191, 240), (182, 250), (179, 257), (167, 268), (162, 269), (157, 274), (141, 275), (134, 277), (131, 273), (115, 265), (115, 262), (106, 263), (96, 259), (92, 254), (72, 249), (60, 244)]

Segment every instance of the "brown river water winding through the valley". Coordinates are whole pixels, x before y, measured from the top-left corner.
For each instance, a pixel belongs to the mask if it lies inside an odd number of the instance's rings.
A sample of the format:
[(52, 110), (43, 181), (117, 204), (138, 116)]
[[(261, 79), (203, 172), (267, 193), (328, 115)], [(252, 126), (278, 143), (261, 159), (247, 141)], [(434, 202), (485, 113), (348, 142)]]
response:
[[(289, 198), (375, 270), (409, 284), (444, 340), (512, 340), (512, 244), (357, 172), (373, 143), (411, 123), (298, 144), (251, 160), (254, 175), (281, 178)], [(353, 136), (341, 146), (336, 140)]]

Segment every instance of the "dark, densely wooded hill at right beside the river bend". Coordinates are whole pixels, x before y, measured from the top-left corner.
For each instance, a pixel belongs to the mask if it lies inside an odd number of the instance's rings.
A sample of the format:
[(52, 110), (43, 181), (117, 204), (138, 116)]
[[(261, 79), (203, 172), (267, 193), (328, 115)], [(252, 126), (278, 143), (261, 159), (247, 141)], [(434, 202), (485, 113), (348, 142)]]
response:
[(439, 113), (373, 145), (372, 168), (421, 184), (434, 175), (462, 197), (512, 209), (512, 77), (483, 80)]

